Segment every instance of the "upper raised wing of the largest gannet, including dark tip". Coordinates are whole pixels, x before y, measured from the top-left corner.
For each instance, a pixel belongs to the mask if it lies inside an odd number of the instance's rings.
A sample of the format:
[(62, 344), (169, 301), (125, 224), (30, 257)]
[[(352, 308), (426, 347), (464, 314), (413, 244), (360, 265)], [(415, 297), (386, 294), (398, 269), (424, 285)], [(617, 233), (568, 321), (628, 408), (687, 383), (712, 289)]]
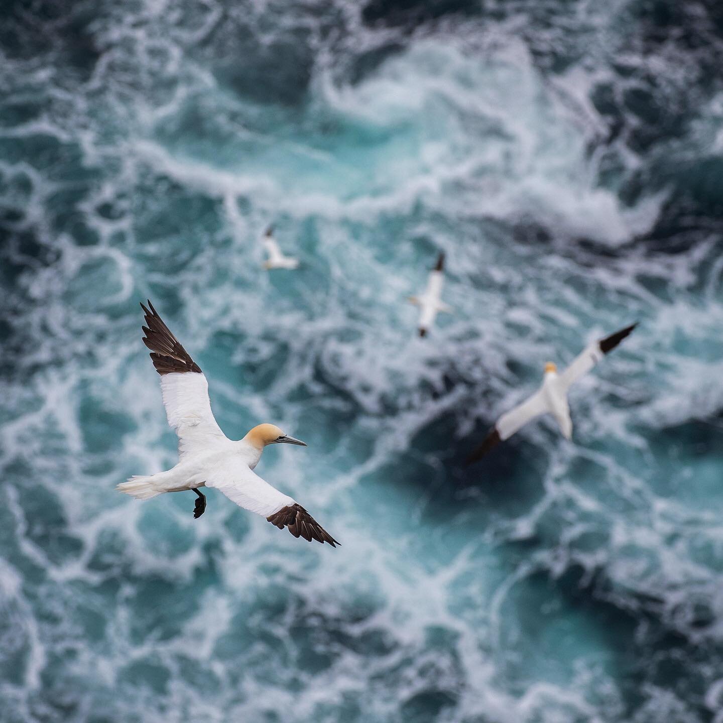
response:
[(143, 304), (141, 307), (147, 325), (143, 327), (143, 343), (161, 375), (163, 405), (168, 424), (179, 437), (179, 455), (202, 451), (210, 442), (225, 439), (211, 411), (208, 382), (200, 367), (163, 323), (153, 304), (148, 301), (148, 309)]

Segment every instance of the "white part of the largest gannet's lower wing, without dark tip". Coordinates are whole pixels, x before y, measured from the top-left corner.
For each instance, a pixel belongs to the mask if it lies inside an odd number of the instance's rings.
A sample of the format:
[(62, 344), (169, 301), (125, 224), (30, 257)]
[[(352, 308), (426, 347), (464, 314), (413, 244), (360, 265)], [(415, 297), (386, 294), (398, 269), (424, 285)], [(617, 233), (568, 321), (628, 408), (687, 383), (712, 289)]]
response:
[(264, 517), (295, 504), (293, 498), (271, 487), (243, 461), (233, 457), (209, 470), (206, 487), (215, 487), (239, 507)]

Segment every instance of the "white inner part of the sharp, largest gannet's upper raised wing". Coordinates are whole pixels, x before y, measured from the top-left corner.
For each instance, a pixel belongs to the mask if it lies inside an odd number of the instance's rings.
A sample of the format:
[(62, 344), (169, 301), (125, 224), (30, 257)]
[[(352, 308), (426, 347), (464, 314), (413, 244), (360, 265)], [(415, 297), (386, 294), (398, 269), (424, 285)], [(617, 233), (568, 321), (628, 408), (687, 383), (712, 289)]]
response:
[(203, 452), (213, 442), (226, 439), (211, 411), (204, 375), (198, 372), (163, 375), (161, 392), (168, 424), (179, 437), (179, 456)]

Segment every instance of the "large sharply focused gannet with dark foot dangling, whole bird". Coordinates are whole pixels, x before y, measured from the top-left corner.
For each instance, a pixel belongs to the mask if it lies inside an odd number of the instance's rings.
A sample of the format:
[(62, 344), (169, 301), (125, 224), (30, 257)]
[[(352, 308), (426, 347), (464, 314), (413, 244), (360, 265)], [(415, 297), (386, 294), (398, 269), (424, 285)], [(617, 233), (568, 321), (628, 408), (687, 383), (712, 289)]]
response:
[(179, 462), (166, 472), (133, 476), (116, 489), (139, 500), (192, 489), (198, 495), (193, 515), (198, 518), (206, 509), (206, 497), (198, 488), (215, 487), (239, 507), (263, 515), (279, 529), (288, 527), (294, 537), (336, 547), (339, 543), (307, 510), (253, 471), (266, 445), (307, 445), (288, 437), (274, 424), (259, 424), (242, 440), (229, 440), (214, 419), (208, 382), (200, 367), (163, 323), (153, 304), (148, 301), (150, 311), (143, 304), (141, 307), (147, 324), (143, 327), (143, 343), (161, 375), (168, 424), (179, 437)]

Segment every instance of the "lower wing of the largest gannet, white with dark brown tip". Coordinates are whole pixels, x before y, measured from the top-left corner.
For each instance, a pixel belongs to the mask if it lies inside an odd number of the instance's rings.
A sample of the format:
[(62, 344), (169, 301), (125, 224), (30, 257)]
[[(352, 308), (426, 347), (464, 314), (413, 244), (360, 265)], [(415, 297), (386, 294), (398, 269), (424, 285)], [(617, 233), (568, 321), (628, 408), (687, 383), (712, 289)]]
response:
[(278, 529), (288, 527), (294, 537), (328, 542), (332, 547), (339, 544), (292, 497), (279, 492), (243, 463), (223, 463), (209, 471), (206, 487), (221, 490), (236, 505), (263, 515)]

